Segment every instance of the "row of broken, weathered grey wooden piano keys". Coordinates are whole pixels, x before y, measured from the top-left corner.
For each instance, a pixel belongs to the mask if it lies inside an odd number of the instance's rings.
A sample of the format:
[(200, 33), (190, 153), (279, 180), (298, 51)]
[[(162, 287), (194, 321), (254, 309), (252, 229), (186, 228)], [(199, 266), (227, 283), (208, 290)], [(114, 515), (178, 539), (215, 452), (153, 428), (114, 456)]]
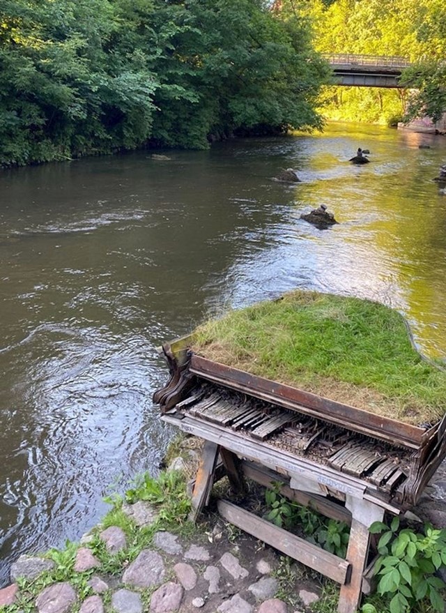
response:
[(176, 411), (369, 480), (385, 492), (399, 487), (410, 472), (409, 449), (206, 381), (178, 402)]

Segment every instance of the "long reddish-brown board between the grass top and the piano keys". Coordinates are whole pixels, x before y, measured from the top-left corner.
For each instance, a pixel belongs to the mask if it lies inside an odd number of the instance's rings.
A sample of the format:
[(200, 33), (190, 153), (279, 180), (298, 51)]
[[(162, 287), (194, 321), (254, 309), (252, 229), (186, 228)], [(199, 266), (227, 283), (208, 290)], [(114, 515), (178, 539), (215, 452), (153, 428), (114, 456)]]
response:
[(322, 398), (295, 387), (257, 377), (249, 372), (231, 368), (194, 354), (192, 354), (190, 361), (190, 372), (209, 381), (215, 381), (226, 387), (249, 393), (256, 398), (279, 404), (279, 406), (303, 414), (322, 418), (325, 421), (330, 421), (330, 423), (348, 427), (348, 430), (362, 432), (378, 439), (390, 441), (392, 444), (401, 444), (417, 449), (420, 447), (425, 433), (423, 428), (376, 415), (363, 409), (349, 407), (347, 404), (334, 402), (334, 400)]

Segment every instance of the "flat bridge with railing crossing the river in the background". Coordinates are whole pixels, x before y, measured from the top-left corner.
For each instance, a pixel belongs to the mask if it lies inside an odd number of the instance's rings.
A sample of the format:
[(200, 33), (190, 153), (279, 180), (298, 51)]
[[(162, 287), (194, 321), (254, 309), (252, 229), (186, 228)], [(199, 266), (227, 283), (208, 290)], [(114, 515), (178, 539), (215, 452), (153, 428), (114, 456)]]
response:
[(399, 77), (410, 61), (397, 56), (323, 54), (334, 72), (334, 84), (357, 87), (402, 87)]

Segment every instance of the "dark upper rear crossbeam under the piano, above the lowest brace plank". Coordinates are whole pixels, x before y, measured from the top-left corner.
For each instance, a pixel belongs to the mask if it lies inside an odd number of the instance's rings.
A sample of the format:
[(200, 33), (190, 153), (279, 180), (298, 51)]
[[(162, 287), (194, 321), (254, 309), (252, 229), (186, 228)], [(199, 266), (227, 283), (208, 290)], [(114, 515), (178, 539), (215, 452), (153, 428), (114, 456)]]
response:
[(351, 513), (344, 506), (326, 500), (317, 494), (307, 494), (307, 492), (291, 489), (288, 477), (254, 462), (247, 462), (247, 460), (241, 462), (241, 469), (245, 477), (252, 479), (256, 483), (265, 487), (274, 487), (273, 483), (280, 483), (279, 490), (286, 498), (294, 500), (303, 506), (309, 506), (318, 513), (325, 515), (325, 517), (330, 517), (332, 520), (345, 522), (348, 525), (351, 524)]

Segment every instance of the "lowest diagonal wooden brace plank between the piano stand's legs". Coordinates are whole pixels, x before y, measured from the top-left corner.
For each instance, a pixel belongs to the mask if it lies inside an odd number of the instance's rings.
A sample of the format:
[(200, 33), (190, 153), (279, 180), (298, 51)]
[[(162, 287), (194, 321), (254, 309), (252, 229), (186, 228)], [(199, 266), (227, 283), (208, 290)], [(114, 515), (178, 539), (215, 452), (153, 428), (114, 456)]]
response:
[(264, 543), (275, 547), (287, 556), (317, 570), (318, 573), (330, 577), (333, 581), (341, 585), (346, 582), (350, 570), (350, 564), (346, 560), (330, 554), (321, 547), (308, 543), (307, 540), (299, 538), (283, 528), (262, 520), (261, 517), (256, 517), (256, 515), (235, 504), (219, 500), (217, 508), (220, 515), (234, 526), (252, 534), (255, 538), (263, 540)]

